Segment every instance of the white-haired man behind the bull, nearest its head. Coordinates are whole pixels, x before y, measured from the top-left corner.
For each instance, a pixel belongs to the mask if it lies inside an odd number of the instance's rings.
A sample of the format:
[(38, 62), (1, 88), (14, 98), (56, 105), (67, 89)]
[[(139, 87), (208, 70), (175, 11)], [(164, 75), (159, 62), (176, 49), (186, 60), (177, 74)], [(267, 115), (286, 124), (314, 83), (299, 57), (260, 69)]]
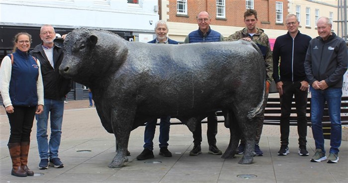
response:
[[(159, 20), (155, 24), (155, 32), (156, 32), (156, 38), (148, 43), (155, 43), (155, 44), (179, 44), (178, 42), (169, 39), (167, 37), (168, 33), (168, 25), (166, 21)], [(169, 140), (169, 128), (171, 125), (171, 117), (170, 116), (163, 116), (161, 117), (160, 121), (160, 137), (159, 137), (159, 146), (160, 146), (160, 153), (159, 155), (162, 155), (164, 157), (172, 157), (172, 153), (168, 150), (168, 140)], [(150, 158), (154, 158), (154, 136), (155, 136), (155, 130), (156, 130), (156, 123), (157, 119), (154, 119), (152, 121), (149, 121), (146, 123), (145, 132), (144, 132), (144, 150), (142, 153), (137, 156), (138, 160), (146, 160)]]

